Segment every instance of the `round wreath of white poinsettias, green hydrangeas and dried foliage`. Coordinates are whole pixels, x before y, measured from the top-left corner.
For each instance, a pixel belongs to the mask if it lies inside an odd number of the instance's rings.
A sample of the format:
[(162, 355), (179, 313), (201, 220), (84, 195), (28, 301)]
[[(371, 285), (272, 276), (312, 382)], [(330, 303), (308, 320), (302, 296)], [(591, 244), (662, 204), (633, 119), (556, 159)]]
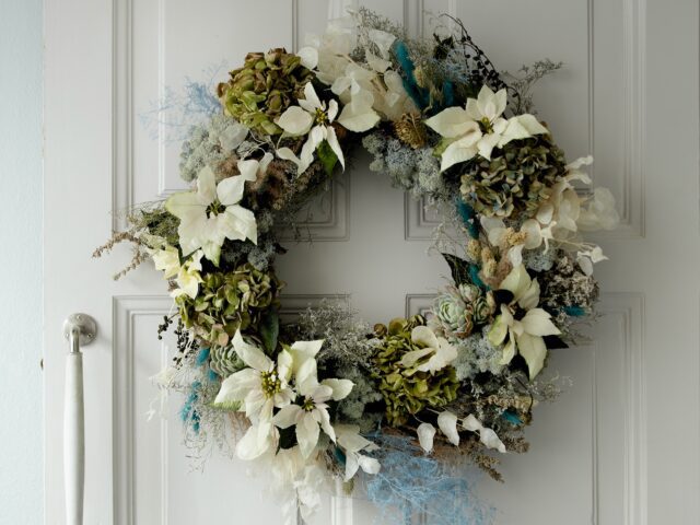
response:
[[(103, 247), (131, 241), (130, 268), (151, 258), (168, 280), (177, 312), (159, 337), (176, 319), (178, 353), (158, 381), (185, 393), (187, 441), (237, 422), (238, 457), (269, 462), (303, 516), (326, 476), (366, 472), (371, 498), (415, 508), (431, 494), (421, 472), (454, 479), (440, 465), (455, 454), (500, 479), (498, 454), (527, 450), (534, 406), (559, 392), (548, 351), (594, 312), (605, 257), (581, 232), (615, 228), (615, 201), (576, 190), (592, 159), (567, 163), (529, 113), (532, 83), (560, 65), (506, 77), (452, 22), (428, 42), (360, 10), (296, 54), (248, 54), (183, 147), (196, 188), (136, 207)], [(278, 232), (360, 138), (372, 171), (443, 213), (454, 282), (424, 317), (370, 328), (328, 303), (281, 324)]]

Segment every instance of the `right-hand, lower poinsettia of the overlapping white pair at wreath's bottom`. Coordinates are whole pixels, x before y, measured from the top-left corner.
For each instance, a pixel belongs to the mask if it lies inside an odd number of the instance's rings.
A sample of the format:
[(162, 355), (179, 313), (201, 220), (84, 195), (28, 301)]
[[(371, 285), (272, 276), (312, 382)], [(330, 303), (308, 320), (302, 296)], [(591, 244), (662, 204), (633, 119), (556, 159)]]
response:
[(352, 390), (349, 380), (324, 380), (318, 382), (316, 360), (306, 359), (295, 374), (296, 393), (303, 398), (301, 405), (282, 407), (272, 418), (280, 429), (295, 427), (296, 442), (302, 456), (308, 457), (318, 443), (320, 430), (336, 442), (336, 433), (330, 424), (328, 401), (343, 399)]

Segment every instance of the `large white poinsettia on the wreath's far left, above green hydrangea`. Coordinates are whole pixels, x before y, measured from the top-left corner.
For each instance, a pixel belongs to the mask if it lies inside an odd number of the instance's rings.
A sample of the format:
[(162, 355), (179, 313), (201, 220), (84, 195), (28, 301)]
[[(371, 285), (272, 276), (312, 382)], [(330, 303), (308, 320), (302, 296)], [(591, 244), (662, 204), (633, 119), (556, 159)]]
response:
[(183, 256), (201, 248), (205, 257), (219, 266), (224, 240), (257, 243), (255, 215), (238, 202), (243, 198), (245, 178), (224, 178), (217, 185), (209, 166), (197, 177), (196, 191), (172, 195), (165, 209), (179, 219), (177, 234)]

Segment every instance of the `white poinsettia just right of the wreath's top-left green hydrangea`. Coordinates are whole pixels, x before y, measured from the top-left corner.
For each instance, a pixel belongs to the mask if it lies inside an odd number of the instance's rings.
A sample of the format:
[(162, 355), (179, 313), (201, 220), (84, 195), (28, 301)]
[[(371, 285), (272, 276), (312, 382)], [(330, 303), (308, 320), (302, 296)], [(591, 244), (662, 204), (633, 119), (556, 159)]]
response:
[(280, 159), (294, 162), (301, 174), (314, 162), (316, 149), (326, 141), (345, 170), (346, 160), (336, 137), (336, 130), (331, 126), (338, 115), (338, 103), (330, 101), (326, 107), (326, 103), (320, 102), (311, 82), (304, 86), (304, 96), (305, 98), (298, 101), (299, 106), (287, 108), (277, 120), (277, 125), (289, 136), (307, 136), (306, 142), (302, 145), (301, 154), (298, 158), (289, 148), (280, 148), (277, 150), (277, 155)]

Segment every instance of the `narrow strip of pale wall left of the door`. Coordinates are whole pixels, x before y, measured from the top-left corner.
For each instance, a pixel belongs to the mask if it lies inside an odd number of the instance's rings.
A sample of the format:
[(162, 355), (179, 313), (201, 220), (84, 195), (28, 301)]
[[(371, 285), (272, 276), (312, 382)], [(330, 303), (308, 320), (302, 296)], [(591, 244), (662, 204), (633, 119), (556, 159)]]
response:
[(0, 523), (39, 524), (42, 0), (0, 0)]

